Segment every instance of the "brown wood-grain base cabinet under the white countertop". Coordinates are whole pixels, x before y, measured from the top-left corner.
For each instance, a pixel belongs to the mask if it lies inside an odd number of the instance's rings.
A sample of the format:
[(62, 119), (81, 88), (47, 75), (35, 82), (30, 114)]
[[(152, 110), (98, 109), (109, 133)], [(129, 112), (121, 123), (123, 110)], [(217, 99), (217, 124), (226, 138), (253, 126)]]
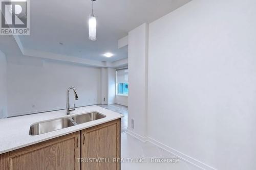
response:
[(0, 170), (120, 170), (120, 119), (0, 155)]

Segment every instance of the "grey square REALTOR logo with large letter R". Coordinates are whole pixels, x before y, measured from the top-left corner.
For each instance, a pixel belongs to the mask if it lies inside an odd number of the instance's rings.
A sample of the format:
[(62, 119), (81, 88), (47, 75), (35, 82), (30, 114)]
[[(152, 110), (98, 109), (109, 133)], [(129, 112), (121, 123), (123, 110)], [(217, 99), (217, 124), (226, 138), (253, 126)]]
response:
[(0, 35), (30, 35), (30, 11), (27, 0), (0, 0)]

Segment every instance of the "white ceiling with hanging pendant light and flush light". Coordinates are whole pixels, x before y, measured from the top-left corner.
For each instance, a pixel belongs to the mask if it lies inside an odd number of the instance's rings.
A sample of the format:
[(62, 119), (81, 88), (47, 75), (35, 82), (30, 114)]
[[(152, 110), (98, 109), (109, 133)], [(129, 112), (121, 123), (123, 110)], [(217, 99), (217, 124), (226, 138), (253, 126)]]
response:
[[(88, 39), (91, 0), (30, 1), (30, 36), (19, 39), (28, 50), (113, 62), (127, 58), (127, 47), (118, 49), (118, 39), (189, 1), (96, 0), (97, 41)], [(114, 57), (102, 56), (106, 52)]]

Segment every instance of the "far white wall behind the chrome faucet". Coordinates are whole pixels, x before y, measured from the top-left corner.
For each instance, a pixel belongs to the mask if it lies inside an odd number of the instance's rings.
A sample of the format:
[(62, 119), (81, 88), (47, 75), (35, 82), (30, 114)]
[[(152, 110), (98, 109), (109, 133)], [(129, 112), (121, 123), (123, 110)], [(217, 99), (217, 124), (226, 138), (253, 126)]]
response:
[(7, 59), (8, 116), (66, 108), (69, 86), (77, 89), (76, 106), (100, 103), (100, 68), (26, 56)]

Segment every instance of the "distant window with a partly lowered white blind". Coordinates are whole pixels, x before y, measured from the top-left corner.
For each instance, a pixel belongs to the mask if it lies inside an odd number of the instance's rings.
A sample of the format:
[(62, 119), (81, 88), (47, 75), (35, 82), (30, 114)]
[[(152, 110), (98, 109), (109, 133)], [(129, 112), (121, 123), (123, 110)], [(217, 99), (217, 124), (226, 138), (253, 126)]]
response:
[(128, 69), (116, 70), (116, 94), (128, 95), (129, 83), (128, 83)]

